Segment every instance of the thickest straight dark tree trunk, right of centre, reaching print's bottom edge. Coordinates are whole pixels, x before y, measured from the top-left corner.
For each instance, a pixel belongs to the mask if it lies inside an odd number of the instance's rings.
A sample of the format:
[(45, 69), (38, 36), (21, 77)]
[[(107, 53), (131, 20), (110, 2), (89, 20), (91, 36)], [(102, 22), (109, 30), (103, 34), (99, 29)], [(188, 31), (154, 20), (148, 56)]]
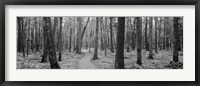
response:
[(116, 69), (124, 69), (124, 32), (125, 32), (125, 17), (118, 17), (117, 49), (115, 55)]

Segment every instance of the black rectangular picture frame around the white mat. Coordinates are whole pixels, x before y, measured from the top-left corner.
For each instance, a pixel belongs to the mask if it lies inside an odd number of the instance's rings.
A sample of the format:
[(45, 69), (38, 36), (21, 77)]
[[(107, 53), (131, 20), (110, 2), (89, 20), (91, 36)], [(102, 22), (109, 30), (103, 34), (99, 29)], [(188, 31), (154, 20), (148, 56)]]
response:
[[(0, 85), (2, 86), (199, 86), (200, 0), (2, 0), (0, 4)], [(195, 81), (5, 81), (5, 5), (195, 5)]]

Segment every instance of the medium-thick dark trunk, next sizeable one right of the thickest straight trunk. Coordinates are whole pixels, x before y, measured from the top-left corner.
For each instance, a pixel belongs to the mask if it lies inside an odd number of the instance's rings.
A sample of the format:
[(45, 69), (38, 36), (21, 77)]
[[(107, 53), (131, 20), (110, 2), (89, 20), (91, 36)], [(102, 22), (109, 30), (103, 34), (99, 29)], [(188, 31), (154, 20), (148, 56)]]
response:
[(142, 19), (136, 17), (136, 32), (137, 32), (137, 64), (142, 65)]

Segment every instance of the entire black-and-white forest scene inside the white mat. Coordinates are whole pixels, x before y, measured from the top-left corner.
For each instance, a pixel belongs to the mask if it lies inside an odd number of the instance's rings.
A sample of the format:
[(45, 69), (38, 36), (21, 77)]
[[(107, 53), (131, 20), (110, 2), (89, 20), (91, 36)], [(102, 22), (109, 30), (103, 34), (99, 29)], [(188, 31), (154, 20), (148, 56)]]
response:
[(17, 69), (183, 69), (183, 17), (16, 17)]

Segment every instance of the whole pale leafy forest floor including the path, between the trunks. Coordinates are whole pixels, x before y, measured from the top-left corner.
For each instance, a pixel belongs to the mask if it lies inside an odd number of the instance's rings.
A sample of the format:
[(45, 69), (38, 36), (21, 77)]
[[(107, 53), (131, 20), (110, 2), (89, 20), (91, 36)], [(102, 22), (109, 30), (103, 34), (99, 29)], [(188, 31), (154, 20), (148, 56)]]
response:
[[(168, 69), (166, 67), (172, 61), (172, 51), (158, 51), (154, 53), (153, 60), (149, 60), (149, 52), (142, 51), (142, 65), (137, 65), (137, 52), (125, 52), (124, 63), (126, 69)], [(83, 50), (82, 54), (76, 54), (75, 52), (63, 51), (62, 61), (58, 62), (61, 69), (114, 69), (115, 53), (104, 51), (98, 53), (97, 60), (91, 60), (93, 58), (93, 51)], [(50, 69), (49, 61), (41, 63), (41, 53), (30, 53), (25, 58), (22, 57), (22, 53), (17, 53), (17, 69)], [(183, 52), (179, 52), (179, 60), (183, 62)], [(181, 67), (183, 69), (183, 67)]]

